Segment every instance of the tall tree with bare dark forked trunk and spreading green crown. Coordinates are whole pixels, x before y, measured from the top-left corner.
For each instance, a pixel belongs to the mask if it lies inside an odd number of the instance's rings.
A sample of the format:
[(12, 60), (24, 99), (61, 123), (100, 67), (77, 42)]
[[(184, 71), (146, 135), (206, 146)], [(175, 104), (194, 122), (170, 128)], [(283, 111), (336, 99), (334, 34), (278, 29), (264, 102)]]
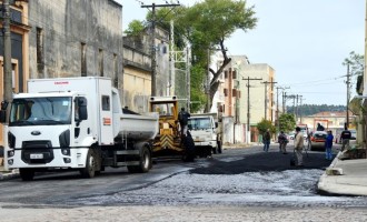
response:
[[(222, 63), (217, 70), (209, 69), (214, 77), (209, 83), (210, 99), (207, 101), (210, 105), (219, 87), (218, 78), (231, 61), (227, 54), (225, 41), (236, 30), (248, 31), (254, 29), (257, 23), (254, 16), (254, 8), (247, 8), (246, 1), (205, 0), (189, 8), (181, 20), (184, 30), (186, 30), (191, 42), (194, 54), (198, 58), (197, 63), (205, 70), (201, 73), (194, 74), (206, 75), (207, 63), (209, 62), (208, 53), (212, 54), (218, 50), (221, 52)], [(205, 82), (202, 84), (205, 85)]]

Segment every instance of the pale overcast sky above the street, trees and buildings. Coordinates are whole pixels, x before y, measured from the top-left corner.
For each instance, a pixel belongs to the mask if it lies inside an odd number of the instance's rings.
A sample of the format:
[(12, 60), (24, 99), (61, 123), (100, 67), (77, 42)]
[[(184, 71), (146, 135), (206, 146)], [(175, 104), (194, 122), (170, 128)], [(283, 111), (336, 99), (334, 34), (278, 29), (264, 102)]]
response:
[[(122, 4), (122, 29), (133, 19), (143, 20), (145, 4), (165, 0), (117, 0)], [(197, 0), (180, 0), (192, 6)], [(255, 6), (258, 23), (237, 31), (225, 43), (229, 56), (246, 54), (251, 63), (268, 63), (278, 85), (288, 94), (302, 95), (302, 103), (346, 104), (350, 51), (364, 54), (364, 0), (247, 0)], [(351, 92), (355, 92), (355, 79)], [(290, 103), (290, 102), (289, 102)]]

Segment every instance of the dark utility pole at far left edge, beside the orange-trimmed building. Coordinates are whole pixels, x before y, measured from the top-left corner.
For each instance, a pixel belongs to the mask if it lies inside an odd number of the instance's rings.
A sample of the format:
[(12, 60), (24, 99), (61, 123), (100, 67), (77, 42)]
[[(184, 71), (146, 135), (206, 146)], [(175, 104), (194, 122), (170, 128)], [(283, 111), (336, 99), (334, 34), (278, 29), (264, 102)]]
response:
[[(7, 105), (12, 101), (12, 68), (11, 68), (11, 32), (10, 32), (10, 7), (9, 0), (3, 1), (3, 103), (2, 109), (7, 110), (9, 117), (10, 107)], [(1, 81), (1, 80), (0, 80)], [(8, 118), (7, 118), (8, 122)]]

